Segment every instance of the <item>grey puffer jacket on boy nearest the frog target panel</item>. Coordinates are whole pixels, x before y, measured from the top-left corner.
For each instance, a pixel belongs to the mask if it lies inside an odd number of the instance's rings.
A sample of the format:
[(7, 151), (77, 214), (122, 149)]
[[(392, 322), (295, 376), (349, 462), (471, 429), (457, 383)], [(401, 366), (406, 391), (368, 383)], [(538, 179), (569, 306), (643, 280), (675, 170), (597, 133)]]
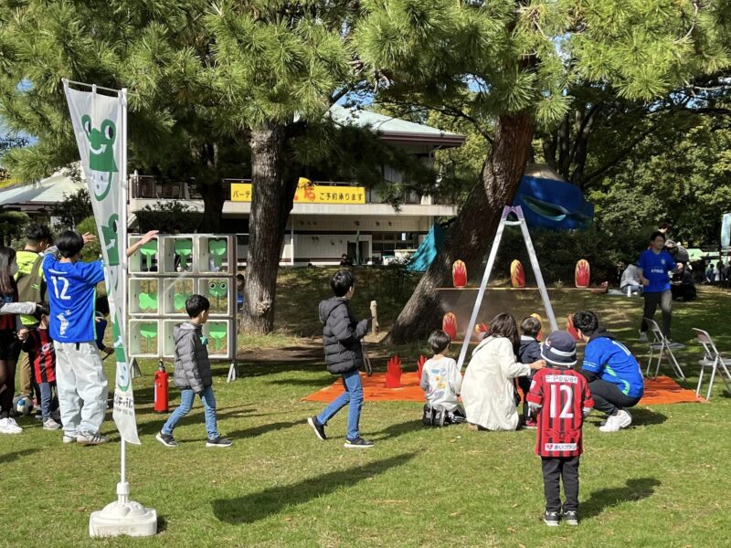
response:
[(203, 326), (192, 321), (179, 323), (173, 330), (173, 342), (175, 342), (175, 386), (191, 388), (196, 394), (200, 394), (208, 386), (213, 385)]

